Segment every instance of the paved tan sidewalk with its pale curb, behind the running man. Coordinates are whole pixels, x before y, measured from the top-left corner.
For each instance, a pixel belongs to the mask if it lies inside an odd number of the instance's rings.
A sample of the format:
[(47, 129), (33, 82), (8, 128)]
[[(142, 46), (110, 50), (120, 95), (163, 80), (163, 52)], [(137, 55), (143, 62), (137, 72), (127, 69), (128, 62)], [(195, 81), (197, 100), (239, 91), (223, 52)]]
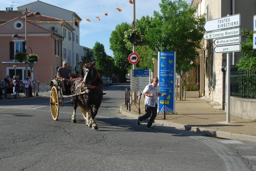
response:
[[(131, 111), (129, 108), (126, 110), (124, 105), (120, 106), (120, 112), (137, 120), (138, 100), (136, 106), (132, 104)], [(256, 122), (230, 115), (230, 123), (226, 123), (226, 112), (220, 108), (219, 104), (205, 97), (186, 98), (186, 101), (176, 101), (176, 114), (166, 114), (166, 120), (164, 114), (158, 114), (155, 124), (200, 132), (218, 138), (256, 142)], [(140, 100), (140, 111), (140, 116), (144, 115), (144, 98)]]

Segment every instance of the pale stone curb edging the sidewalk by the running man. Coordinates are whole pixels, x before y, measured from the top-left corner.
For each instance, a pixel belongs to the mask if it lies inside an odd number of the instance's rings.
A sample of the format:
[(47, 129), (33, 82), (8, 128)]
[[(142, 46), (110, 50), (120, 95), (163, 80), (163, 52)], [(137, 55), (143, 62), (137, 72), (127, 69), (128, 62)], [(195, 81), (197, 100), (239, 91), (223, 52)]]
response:
[[(120, 106), (119, 111), (121, 112), (122, 115), (128, 116), (130, 118), (138, 119), (138, 115), (131, 114), (129, 112), (124, 111), (122, 109), (122, 106)], [(246, 134), (237, 134), (237, 133), (231, 133), (231, 132), (216, 131), (216, 130), (211, 130), (211, 129), (204, 128), (204, 127), (183, 125), (183, 124), (168, 122), (168, 121), (164, 121), (164, 120), (157, 120), (157, 119), (155, 119), (154, 122), (155, 122), (155, 124), (168, 126), (168, 127), (174, 127), (174, 128), (180, 129), (180, 130), (199, 132), (199, 133), (206, 134), (208, 136), (212, 136), (215, 138), (225, 138), (225, 139), (230, 139), (230, 140), (245, 140), (245, 141), (256, 142), (256, 136), (250, 136), (250, 135), (246, 135)]]

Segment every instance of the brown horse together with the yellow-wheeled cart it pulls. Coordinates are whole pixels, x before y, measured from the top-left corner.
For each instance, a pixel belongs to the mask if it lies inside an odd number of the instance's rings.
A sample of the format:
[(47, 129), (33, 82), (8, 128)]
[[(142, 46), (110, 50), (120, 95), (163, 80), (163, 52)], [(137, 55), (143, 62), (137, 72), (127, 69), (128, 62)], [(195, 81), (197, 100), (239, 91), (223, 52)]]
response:
[(79, 106), (83, 117), (86, 120), (86, 125), (95, 130), (98, 129), (94, 118), (98, 113), (103, 98), (103, 84), (94, 64), (95, 62), (84, 64), (84, 77), (81, 76), (69, 80), (70, 84), (65, 87), (68, 95), (63, 95), (60, 79), (56, 78), (50, 81), (50, 86), (52, 87), (50, 94), (50, 108), (54, 120), (58, 119), (59, 109), (64, 106), (64, 98), (70, 97), (74, 108), (71, 117), (72, 122), (76, 123), (76, 108)]

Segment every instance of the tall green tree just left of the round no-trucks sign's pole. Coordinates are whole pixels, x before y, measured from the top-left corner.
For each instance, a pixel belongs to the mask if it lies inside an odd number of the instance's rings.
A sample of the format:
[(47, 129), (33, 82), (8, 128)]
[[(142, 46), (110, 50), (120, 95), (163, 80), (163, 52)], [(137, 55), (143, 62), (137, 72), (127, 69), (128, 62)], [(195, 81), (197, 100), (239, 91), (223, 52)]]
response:
[(124, 43), (124, 31), (127, 31), (131, 28), (131, 25), (127, 22), (118, 24), (114, 31), (111, 33), (110, 41), (110, 49), (113, 51), (114, 55), (114, 65), (116, 71), (120, 73), (121, 80), (125, 81), (125, 75), (128, 71), (131, 63), (128, 61), (128, 56), (132, 51), (128, 50), (125, 47)]

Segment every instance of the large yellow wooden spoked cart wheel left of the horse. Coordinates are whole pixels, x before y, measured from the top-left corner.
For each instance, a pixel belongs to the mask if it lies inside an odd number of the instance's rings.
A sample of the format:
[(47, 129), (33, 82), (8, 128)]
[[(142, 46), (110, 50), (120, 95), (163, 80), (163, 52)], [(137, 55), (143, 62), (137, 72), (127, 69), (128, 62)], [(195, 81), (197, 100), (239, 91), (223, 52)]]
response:
[(53, 86), (51, 90), (50, 107), (53, 120), (57, 120), (59, 115), (59, 97), (56, 86)]

